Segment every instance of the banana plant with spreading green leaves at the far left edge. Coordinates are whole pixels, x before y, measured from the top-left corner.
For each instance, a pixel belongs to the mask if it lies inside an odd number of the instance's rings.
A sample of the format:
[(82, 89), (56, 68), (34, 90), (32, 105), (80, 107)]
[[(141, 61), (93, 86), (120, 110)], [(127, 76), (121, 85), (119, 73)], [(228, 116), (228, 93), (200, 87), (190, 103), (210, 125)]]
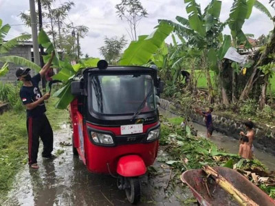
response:
[[(4, 41), (4, 38), (9, 31), (10, 25), (3, 25), (3, 21), (0, 19), (0, 54), (8, 53), (10, 49), (17, 47), (17, 45), (19, 45), (21, 41), (26, 41), (32, 37), (30, 34), (23, 34), (21, 36), (12, 38), (10, 41)], [(15, 65), (29, 67), (31, 69), (35, 69), (36, 71), (39, 71), (41, 69), (39, 65), (36, 65), (30, 60), (27, 60), (20, 56), (1, 56), (0, 62), (4, 63), (0, 69), (0, 76), (4, 76), (5, 73), (8, 73), (8, 62), (14, 63)]]

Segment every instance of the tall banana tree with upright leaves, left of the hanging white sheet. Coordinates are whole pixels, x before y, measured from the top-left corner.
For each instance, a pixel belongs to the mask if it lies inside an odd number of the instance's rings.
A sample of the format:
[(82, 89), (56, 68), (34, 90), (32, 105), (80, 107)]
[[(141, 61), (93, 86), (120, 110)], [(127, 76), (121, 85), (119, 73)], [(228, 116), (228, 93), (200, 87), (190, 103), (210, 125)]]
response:
[[(201, 14), (201, 8), (195, 0), (185, 0), (184, 3), (186, 3), (188, 19), (177, 16), (176, 19), (178, 23), (163, 19), (159, 20), (159, 22), (173, 26), (173, 31), (177, 36), (180, 36), (180, 38), (186, 38), (187, 45), (190, 47), (196, 47), (202, 51), (201, 67), (206, 72), (208, 91), (210, 98), (212, 99), (213, 89), (209, 67), (214, 68), (216, 64), (212, 63), (213, 58), (208, 54), (209, 51), (210, 54), (213, 54), (213, 52), (217, 50), (221, 38), (221, 32), (224, 27), (224, 24), (219, 21), (221, 1), (212, 0), (204, 10), (203, 14)], [(217, 56), (217, 54), (214, 54), (214, 56)], [(210, 65), (208, 65), (208, 62), (210, 62)]]

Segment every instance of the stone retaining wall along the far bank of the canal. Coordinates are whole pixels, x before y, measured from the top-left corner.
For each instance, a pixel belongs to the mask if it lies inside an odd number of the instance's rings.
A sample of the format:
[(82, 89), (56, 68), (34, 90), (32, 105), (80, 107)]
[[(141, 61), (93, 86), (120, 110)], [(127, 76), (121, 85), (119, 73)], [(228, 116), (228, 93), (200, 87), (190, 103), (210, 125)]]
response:
[[(167, 100), (160, 100), (160, 107), (166, 111), (170, 111), (175, 115), (181, 115), (181, 106), (174, 104), (173, 102), (169, 102)], [(203, 117), (198, 115), (197, 113), (191, 113), (190, 118), (193, 122), (197, 122), (198, 124), (205, 125)], [(245, 119), (232, 119), (232, 117), (223, 117), (221, 115), (212, 114), (212, 122), (214, 129), (219, 133), (223, 133), (229, 137), (234, 139), (239, 139), (239, 133), (241, 130), (245, 130), (245, 126), (243, 122)], [(255, 123), (255, 122), (254, 122)], [(256, 136), (253, 141), (253, 144), (256, 148), (261, 150), (265, 150), (267, 152), (275, 155), (275, 130), (274, 128), (267, 127), (265, 125), (261, 125), (256, 123), (255, 126)]]

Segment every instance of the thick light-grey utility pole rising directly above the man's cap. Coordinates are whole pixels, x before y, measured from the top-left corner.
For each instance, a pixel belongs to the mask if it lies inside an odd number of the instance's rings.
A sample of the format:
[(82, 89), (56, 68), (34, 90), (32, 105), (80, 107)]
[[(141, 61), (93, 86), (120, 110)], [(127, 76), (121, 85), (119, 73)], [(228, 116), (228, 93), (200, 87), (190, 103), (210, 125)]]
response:
[(40, 65), (39, 41), (37, 40), (37, 24), (34, 0), (30, 0), (30, 22), (32, 24), (32, 47), (34, 49), (34, 63)]

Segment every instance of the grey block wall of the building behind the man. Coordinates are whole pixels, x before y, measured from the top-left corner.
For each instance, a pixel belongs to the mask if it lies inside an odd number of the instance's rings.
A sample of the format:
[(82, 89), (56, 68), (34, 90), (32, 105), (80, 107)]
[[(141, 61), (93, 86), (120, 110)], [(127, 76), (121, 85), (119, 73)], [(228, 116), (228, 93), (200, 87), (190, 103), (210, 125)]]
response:
[[(7, 54), (2, 54), (1, 56), (21, 56), (28, 60), (32, 60), (32, 45), (19, 45), (18, 47), (13, 48)], [(3, 63), (0, 62), (0, 68), (3, 66)], [(1, 82), (16, 82), (17, 78), (15, 76), (15, 72), (17, 69), (21, 67), (21, 65), (14, 65), (12, 63), (9, 64), (9, 71), (5, 74), (5, 76), (0, 78)], [(34, 71), (31, 71), (31, 75), (34, 75)]]

